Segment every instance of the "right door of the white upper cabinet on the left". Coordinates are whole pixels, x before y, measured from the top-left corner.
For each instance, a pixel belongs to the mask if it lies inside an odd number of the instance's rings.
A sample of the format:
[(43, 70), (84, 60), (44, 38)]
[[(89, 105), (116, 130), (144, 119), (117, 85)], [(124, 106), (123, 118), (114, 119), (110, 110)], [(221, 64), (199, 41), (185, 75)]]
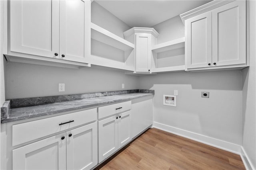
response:
[(85, 62), (90, 5), (90, 0), (60, 1), (60, 59)]

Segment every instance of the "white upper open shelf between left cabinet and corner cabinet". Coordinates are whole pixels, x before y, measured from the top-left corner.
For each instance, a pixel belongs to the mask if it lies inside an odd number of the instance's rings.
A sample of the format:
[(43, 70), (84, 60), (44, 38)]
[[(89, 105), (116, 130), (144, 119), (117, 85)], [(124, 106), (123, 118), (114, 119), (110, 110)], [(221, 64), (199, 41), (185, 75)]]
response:
[(91, 38), (122, 51), (134, 49), (134, 44), (94, 23), (91, 23)]

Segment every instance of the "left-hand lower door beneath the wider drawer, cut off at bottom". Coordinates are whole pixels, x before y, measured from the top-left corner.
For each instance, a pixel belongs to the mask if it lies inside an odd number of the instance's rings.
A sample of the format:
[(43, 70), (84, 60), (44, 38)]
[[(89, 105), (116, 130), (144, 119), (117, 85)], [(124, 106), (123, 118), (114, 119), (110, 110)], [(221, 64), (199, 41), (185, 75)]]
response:
[[(63, 140), (62, 137), (64, 137)], [(12, 168), (17, 170), (66, 169), (66, 133), (14, 149)]]

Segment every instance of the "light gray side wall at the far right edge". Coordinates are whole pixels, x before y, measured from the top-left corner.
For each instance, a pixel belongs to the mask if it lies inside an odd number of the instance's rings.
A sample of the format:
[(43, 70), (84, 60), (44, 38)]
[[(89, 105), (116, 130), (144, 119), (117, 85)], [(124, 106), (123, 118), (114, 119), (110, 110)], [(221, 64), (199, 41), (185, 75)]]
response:
[[(243, 134), (242, 146), (252, 166), (256, 168), (256, 1), (250, 4), (250, 67), (242, 71), (243, 76)], [(253, 167), (252, 167), (253, 168)]]

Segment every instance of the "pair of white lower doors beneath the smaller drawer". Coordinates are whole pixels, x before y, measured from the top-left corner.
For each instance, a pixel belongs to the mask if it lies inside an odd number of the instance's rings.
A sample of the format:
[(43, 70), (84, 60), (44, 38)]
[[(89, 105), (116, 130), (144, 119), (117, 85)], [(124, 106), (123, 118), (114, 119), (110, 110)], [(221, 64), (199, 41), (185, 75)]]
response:
[(131, 111), (126, 111), (99, 121), (99, 162), (132, 139)]

